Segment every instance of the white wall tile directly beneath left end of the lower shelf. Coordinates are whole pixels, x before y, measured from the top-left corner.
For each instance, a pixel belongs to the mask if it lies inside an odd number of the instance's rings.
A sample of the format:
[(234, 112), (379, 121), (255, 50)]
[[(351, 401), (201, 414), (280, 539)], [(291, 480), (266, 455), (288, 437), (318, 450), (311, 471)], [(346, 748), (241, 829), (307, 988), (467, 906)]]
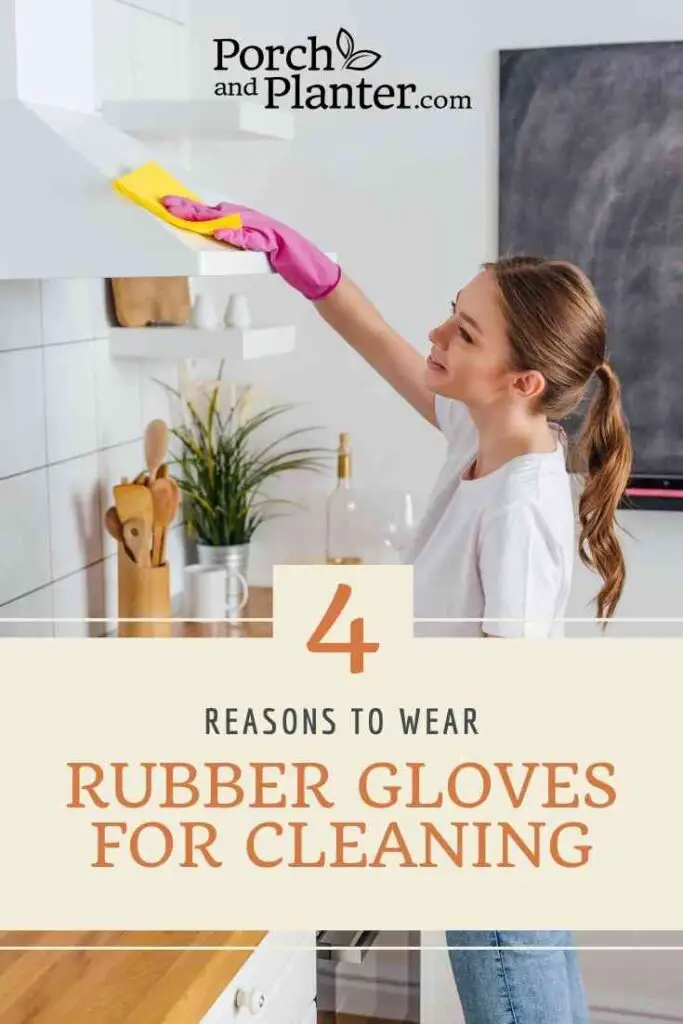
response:
[(97, 447), (142, 435), (140, 368), (135, 359), (110, 358), (106, 338), (93, 341)]

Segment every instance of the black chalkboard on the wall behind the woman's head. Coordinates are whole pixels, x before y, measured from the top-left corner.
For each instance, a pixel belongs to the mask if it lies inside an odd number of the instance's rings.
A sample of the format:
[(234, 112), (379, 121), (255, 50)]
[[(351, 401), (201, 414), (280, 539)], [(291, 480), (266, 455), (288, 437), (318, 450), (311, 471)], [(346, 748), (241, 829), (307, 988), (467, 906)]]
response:
[(592, 280), (634, 490), (683, 499), (683, 43), (501, 51), (499, 253), (523, 252)]

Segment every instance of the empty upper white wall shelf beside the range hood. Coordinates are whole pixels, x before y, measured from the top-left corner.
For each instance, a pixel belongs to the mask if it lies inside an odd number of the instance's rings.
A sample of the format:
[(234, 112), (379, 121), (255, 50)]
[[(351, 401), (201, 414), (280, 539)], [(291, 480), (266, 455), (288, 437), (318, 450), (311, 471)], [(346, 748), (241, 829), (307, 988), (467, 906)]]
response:
[(229, 99), (129, 99), (102, 104), (102, 117), (141, 139), (214, 140), (294, 138), (294, 115)]

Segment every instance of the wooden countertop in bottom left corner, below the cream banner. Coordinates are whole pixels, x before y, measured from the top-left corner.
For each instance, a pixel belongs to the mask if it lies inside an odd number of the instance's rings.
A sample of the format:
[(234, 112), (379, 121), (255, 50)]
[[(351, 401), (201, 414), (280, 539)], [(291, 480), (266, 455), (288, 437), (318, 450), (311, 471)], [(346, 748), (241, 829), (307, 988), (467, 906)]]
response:
[[(2, 1024), (198, 1024), (267, 932), (0, 932)], [(88, 946), (74, 951), (7, 946)], [(98, 946), (123, 946), (97, 950)], [(221, 946), (139, 951), (127, 946)], [(251, 948), (232, 948), (248, 946)], [(4, 947), (4, 948), (3, 948)]]

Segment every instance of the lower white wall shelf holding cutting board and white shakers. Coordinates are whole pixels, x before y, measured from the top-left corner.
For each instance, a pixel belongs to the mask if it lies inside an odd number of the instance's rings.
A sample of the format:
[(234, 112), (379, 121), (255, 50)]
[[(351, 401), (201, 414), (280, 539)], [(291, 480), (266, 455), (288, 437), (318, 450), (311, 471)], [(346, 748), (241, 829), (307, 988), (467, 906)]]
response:
[(116, 327), (110, 354), (120, 359), (261, 359), (294, 351), (296, 328)]

